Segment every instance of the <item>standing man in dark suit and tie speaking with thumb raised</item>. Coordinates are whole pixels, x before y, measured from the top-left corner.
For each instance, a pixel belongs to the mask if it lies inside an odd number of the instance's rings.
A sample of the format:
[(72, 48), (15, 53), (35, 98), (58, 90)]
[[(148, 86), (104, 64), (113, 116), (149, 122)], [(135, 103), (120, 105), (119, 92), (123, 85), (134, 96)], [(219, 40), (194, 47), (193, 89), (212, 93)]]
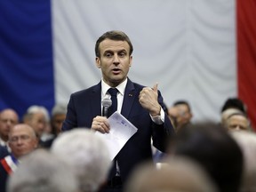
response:
[(109, 174), (108, 184), (103, 191), (122, 191), (122, 184), (132, 169), (143, 161), (152, 160), (151, 138), (153, 145), (164, 151), (166, 141), (174, 132), (172, 123), (164, 112), (166, 108), (157, 84), (153, 88), (144, 87), (128, 78), (127, 74), (132, 66), (132, 51), (131, 41), (122, 31), (108, 31), (100, 36), (95, 45), (95, 53), (102, 79), (99, 84), (71, 95), (62, 126), (62, 131), (90, 127), (94, 131), (108, 133), (111, 127), (107, 117), (101, 116), (101, 100), (105, 97), (112, 100), (115, 96), (110, 96), (112, 93), (108, 89), (116, 88), (117, 108), (114, 111), (117, 110), (126, 117), (138, 128), (138, 132), (116, 155), (114, 169)]

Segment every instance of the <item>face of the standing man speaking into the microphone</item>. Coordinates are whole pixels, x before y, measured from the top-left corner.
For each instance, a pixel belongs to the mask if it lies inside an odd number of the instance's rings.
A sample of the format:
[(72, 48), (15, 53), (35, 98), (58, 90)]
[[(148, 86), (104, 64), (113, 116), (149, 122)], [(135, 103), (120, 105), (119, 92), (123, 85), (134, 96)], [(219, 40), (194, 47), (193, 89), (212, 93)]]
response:
[(105, 39), (100, 43), (99, 49), (100, 58), (96, 57), (96, 64), (101, 68), (104, 82), (111, 87), (124, 82), (132, 65), (129, 44)]

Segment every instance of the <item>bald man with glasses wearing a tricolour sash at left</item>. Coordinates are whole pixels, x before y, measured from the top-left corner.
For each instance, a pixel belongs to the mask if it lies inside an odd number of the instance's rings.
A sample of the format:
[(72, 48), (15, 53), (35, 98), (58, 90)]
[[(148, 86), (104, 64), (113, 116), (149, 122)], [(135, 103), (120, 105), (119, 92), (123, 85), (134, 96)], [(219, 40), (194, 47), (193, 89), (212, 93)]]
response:
[(5, 191), (6, 180), (17, 168), (21, 156), (27, 155), (37, 148), (36, 132), (28, 124), (16, 124), (9, 132), (10, 156), (0, 160), (0, 191)]

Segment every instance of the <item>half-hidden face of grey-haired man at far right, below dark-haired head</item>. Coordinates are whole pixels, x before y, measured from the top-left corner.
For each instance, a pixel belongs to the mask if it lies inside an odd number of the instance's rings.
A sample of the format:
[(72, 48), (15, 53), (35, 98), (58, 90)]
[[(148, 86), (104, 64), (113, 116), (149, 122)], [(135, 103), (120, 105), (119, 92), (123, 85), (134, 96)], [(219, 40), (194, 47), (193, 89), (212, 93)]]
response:
[(228, 119), (228, 130), (231, 131), (238, 131), (238, 130), (244, 130), (248, 131), (249, 130), (249, 122), (246, 117), (244, 116), (239, 116), (239, 115), (234, 115), (231, 116)]

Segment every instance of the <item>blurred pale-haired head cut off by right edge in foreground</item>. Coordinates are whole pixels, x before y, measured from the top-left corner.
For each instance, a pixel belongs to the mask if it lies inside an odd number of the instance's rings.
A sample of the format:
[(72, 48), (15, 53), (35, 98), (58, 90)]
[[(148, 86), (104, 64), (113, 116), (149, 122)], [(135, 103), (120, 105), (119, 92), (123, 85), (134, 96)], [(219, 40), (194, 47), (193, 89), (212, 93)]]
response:
[(256, 192), (256, 134), (254, 132), (230, 132), (244, 155), (244, 174), (241, 191)]

